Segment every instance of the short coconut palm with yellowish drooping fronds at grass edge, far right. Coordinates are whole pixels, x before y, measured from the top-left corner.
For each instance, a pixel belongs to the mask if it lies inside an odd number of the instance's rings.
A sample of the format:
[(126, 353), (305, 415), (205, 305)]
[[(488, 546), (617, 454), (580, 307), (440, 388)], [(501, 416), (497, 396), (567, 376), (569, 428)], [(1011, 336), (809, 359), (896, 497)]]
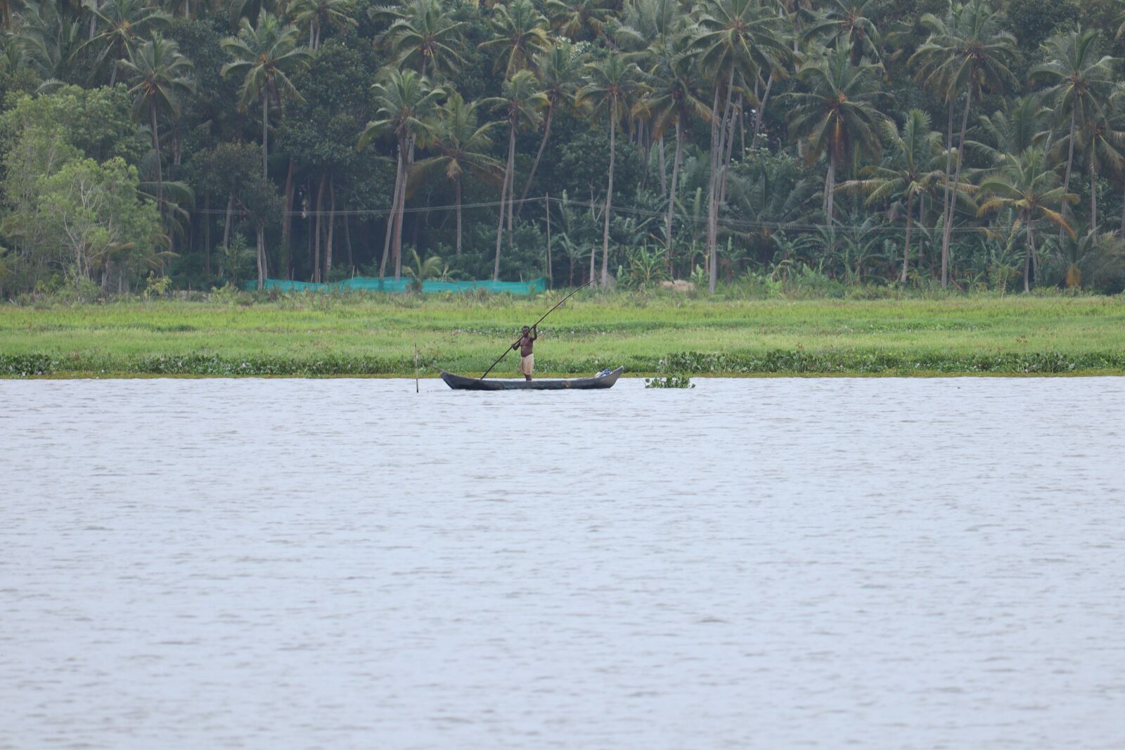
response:
[(1015, 214), (1012, 229), (1025, 231), (1024, 291), (1030, 291), (1032, 262), (1035, 257), (1035, 223), (1047, 219), (1074, 236), (1062, 215), (1063, 204), (1074, 204), (1078, 196), (1059, 184), (1059, 174), (1047, 165), (1043, 148), (1030, 146), (1019, 154), (1007, 154), (997, 172), (980, 184), (986, 196), (976, 215), (1008, 209)]

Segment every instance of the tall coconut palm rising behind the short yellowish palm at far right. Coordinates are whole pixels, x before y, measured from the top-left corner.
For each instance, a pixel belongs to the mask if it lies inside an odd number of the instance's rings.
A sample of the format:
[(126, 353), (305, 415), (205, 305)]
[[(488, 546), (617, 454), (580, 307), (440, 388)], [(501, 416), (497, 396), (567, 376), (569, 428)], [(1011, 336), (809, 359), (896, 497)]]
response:
[(1070, 189), (1074, 147), (1079, 141), (1088, 141), (1078, 130), (1089, 134), (1097, 129), (1096, 123), (1105, 119), (1104, 105), (1115, 87), (1116, 60), (1099, 55), (1099, 43), (1098, 31), (1081, 26), (1066, 34), (1056, 34), (1043, 45), (1047, 61), (1028, 72), (1032, 81), (1047, 83), (1045, 99), (1058, 119), (1070, 121), (1066, 136), (1058, 144), (1066, 150), (1063, 192)]

